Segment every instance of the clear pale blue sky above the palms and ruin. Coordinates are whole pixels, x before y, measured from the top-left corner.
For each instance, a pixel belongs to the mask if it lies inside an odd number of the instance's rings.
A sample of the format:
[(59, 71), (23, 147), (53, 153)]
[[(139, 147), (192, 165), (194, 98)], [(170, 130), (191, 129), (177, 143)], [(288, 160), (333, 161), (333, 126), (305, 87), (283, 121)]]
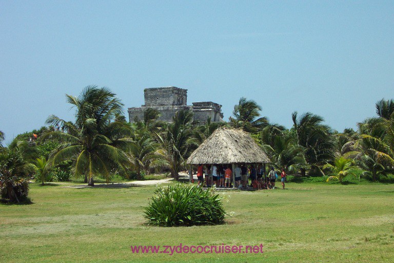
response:
[(127, 107), (143, 89), (188, 104), (244, 96), (290, 128), (311, 111), (342, 131), (394, 99), (394, 1), (0, 0), (0, 130), (6, 142), (55, 114), (65, 94), (107, 86)]

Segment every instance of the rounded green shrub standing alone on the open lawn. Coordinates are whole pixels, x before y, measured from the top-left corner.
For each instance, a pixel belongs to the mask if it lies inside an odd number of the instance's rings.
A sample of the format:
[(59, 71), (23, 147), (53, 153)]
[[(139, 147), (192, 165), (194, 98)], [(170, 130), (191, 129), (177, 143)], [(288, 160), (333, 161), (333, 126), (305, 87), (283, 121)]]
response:
[(145, 209), (147, 224), (162, 227), (224, 223), (222, 198), (201, 187), (159, 187)]

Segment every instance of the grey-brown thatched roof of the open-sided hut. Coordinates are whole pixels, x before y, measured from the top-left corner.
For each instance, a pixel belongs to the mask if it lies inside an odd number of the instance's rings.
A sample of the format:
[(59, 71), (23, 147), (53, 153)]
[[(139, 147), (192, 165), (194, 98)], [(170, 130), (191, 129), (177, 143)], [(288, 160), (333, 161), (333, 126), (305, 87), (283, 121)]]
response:
[(188, 164), (269, 163), (268, 156), (241, 129), (218, 128), (187, 159)]

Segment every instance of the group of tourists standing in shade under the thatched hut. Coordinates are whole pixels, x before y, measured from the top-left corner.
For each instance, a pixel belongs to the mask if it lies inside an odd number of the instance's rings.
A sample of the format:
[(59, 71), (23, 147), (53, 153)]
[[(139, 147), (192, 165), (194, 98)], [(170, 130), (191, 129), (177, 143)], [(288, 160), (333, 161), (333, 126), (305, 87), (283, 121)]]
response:
[[(198, 185), (205, 187), (228, 188), (233, 183), (234, 187), (237, 188), (275, 189), (275, 181), (278, 179), (278, 174), (273, 167), (270, 168), (268, 175), (266, 175), (264, 167), (260, 164), (257, 165), (257, 169), (255, 165), (235, 164), (234, 176), (235, 180), (232, 182), (231, 165), (199, 164), (197, 168)], [(285, 189), (285, 182), (286, 173), (284, 168), (282, 168), (281, 183), (283, 189)]]

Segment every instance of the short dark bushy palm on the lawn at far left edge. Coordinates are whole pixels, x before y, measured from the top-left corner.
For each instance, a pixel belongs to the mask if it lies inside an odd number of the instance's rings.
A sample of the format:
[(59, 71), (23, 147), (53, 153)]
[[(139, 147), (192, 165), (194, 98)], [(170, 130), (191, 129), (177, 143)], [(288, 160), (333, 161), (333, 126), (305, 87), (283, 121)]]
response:
[(11, 202), (26, 200), (29, 192), (29, 174), (33, 167), (17, 149), (0, 152), (0, 197)]

